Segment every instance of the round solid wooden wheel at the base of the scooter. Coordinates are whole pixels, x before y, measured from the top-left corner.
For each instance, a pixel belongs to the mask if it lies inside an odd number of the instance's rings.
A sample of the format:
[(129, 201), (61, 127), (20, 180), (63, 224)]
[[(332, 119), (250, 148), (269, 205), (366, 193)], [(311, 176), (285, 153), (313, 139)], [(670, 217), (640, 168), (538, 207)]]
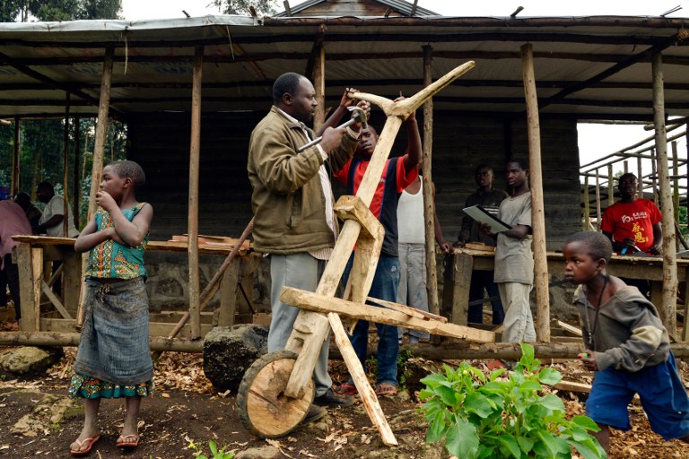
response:
[(296, 359), (292, 351), (270, 352), (244, 374), (237, 394), (237, 413), (244, 427), (257, 437), (283, 437), (309, 411), (315, 393), (313, 380), (301, 398), (284, 395)]

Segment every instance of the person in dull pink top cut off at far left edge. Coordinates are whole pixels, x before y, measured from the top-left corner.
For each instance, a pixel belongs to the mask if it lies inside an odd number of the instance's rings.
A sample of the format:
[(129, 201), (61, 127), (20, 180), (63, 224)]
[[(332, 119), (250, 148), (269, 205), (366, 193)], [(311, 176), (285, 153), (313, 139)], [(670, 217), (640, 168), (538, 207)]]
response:
[[(19, 204), (15, 204), (8, 195), (2, 195), (0, 201), (0, 305), (7, 306), (7, 286), (14, 302), (14, 317), (19, 327), (22, 318), (22, 306), (19, 298), (19, 270), (12, 263), (12, 247), (19, 244), (13, 240), (15, 234), (31, 235), (31, 225)], [(14, 328), (14, 325), (12, 326)]]

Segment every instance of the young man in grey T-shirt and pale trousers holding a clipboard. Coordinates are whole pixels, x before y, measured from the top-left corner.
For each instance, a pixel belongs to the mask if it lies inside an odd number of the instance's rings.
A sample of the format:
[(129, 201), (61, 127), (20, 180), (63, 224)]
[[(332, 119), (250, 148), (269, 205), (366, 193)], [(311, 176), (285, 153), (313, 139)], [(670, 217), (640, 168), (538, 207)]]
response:
[(528, 160), (507, 162), (507, 184), (512, 194), (500, 204), (497, 218), (500, 222), (480, 223), (481, 230), (497, 238), (494, 279), (505, 308), (502, 342), (535, 342), (536, 329), (528, 300), (534, 284)]

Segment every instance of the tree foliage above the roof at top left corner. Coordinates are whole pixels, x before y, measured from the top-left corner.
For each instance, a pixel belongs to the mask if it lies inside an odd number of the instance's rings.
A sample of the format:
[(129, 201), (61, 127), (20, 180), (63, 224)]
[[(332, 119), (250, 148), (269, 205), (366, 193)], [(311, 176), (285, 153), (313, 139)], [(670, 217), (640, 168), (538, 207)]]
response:
[(2, 22), (119, 19), (122, 0), (0, 0)]

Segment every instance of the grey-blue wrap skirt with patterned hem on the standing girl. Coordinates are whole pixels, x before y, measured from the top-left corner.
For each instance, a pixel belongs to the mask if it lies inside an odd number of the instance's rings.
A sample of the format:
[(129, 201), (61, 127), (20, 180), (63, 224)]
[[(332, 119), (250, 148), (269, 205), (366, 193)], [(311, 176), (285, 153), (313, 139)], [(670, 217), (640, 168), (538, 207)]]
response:
[[(87, 280), (82, 336), (70, 392), (74, 396), (78, 392), (81, 396), (93, 396), (83, 394), (88, 392), (87, 387), (80, 389), (74, 385), (93, 385), (98, 380), (100, 385), (110, 388), (150, 386), (153, 393), (148, 327), (148, 296), (143, 277), (115, 283)], [(141, 389), (135, 392), (142, 394)]]

